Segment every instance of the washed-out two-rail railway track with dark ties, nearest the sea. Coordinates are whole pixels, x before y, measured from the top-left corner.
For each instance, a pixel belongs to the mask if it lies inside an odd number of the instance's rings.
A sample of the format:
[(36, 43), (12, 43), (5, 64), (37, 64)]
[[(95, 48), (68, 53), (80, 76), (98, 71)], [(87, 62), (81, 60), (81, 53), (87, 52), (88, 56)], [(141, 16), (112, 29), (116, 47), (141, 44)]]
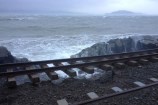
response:
[(35, 61), (27, 63), (1, 64), (0, 77), (6, 77), (9, 87), (16, 87), (16, 76), (27, 75), (33, 84), (39, 83), (39, 73), (45, 72), (51, 80), (59, 79), (56, 70), (62, 70), (70, 77), (77, 76), (73, 68), (78, 68), (86, 73), (94, 73), (95, 68), (102, 70), (121, 69), (126, 65), (138, 66), (149, 62), (158, 61), (158, 49), (144, 50), (139, 52), (120, 53), (104, 56), (82, 57), (71, 59), (57, 59)]

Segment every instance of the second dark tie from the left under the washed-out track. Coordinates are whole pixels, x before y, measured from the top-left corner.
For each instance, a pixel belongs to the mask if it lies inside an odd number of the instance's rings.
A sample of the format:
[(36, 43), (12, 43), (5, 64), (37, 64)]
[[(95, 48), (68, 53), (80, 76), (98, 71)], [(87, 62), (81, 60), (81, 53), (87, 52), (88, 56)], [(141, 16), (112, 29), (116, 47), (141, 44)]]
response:
[[(35, 66), (29, 66), (25, 68), (26, 70), (31, 70), (31, 69), (36, 69)], [(28, 74), (28, 77), (30, 78), (30, 80), (32, 81), (33, 84), (37, 84), (40, 82), (38, 73), (33, 73), (33, 74)]]

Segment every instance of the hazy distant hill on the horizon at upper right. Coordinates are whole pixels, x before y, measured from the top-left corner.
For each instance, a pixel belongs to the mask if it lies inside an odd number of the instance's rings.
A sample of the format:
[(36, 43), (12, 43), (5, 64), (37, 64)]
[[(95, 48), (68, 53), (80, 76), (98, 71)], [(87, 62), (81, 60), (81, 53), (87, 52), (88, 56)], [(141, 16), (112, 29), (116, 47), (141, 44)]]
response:
[(126, 11), (126, 10), (119, 10), (119, 11), (114, 11), (111, 13), (105, 14), (106, 16), (140, 16), (143, 15), (141, 13), (135, 13), (131, 11)]

